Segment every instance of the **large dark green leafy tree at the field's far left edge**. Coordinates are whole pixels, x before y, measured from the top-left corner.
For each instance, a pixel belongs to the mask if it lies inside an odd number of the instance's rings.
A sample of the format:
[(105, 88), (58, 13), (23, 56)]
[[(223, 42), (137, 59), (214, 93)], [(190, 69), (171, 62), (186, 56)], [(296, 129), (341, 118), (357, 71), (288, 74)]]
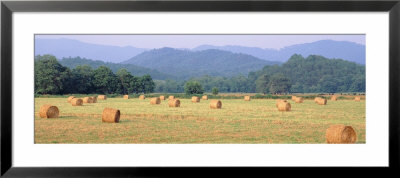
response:
[(62, 66), (52, 55), (35, 57), (35, 93), (63, 94), (71, 71)]

